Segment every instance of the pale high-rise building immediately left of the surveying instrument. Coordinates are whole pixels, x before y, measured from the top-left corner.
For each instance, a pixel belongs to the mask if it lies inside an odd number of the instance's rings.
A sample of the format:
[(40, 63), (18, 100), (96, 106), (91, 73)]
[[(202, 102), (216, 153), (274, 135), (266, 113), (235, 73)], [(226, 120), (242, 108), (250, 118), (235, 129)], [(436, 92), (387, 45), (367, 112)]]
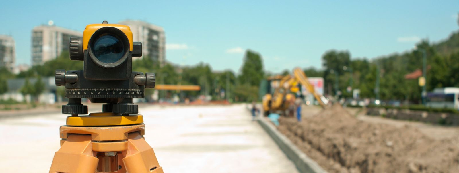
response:
[(32, 65), (41, 65), (51, 59), (56, 59), (63, 51), (68, 51), (70, 37), (83, 36), (82, 32), (41, 25), (32, 29)]

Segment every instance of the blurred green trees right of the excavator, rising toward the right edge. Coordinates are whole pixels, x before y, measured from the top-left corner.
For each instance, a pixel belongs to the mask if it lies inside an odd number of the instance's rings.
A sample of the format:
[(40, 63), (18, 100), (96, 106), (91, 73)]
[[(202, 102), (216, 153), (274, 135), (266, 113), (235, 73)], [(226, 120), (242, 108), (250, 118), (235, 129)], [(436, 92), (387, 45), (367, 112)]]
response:
[(457, 32), (453, 33), (448, 40), (437, 44), (423, 40), (416, 44), (417, 49), (371, 60), (351, 59), (349, 51), (330, 50), (322, 56), (323, 70), (314, 72), (324, 77), (325, 93), (329, 95), (340, 92), (342, 97), (350, 97), (347, 87), (351, 87), (360, 89), (360, 96), (364, 98), (420, 103), (422, 87), (419, 86), (418, 79), (406, 79), (405, 75), (415, 70), (423, 70), (425, 53), (427, 91), (436, 87), (459, 87), (458, 36)]

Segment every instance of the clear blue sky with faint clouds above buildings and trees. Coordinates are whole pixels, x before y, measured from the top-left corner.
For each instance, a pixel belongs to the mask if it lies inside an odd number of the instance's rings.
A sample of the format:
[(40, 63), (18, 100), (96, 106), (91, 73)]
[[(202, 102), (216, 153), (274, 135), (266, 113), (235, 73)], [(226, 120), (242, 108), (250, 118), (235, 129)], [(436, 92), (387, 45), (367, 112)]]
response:
[(272, 72), (321, 68), (329, 49), (375, 58), (437, 42), (458, 30), (458, 0), (417, 1), (8, 1), (0, 5), (0, 34), (16, 40), (17, 64), (30, 64), (33, 27), (83, 31), (90, 23), (143, 20), (164, 27), (168, 61), (208, 63), (239, 72), (245, 49)]

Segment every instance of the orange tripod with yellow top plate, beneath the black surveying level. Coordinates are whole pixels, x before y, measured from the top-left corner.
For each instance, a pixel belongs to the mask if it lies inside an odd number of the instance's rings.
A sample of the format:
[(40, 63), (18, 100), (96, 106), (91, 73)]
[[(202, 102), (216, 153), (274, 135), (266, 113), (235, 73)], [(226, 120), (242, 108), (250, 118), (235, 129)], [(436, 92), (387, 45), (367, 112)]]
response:
[[(81, 98), (76, 100), (81, 103)], [(142, 115), (72, 114), (59, 131), (61, 148), (50, 173), (163, 173), (143, 137)]]

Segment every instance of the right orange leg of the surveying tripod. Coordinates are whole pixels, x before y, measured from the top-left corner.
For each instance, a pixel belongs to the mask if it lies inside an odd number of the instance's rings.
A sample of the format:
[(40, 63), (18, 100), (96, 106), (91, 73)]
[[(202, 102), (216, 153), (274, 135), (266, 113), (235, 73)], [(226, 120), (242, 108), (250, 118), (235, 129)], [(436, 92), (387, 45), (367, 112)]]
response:
[(128, 173), (163, 173), (153, 148), (139, 132), (129, 133), (128, 151), (123, 162)]

